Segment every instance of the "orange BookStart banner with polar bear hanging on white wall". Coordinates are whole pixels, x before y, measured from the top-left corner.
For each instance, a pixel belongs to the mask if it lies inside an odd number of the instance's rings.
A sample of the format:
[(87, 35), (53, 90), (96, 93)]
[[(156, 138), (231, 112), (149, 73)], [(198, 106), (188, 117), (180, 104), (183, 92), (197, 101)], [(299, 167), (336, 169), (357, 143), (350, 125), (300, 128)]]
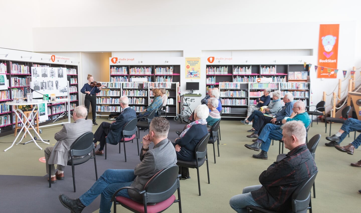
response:
[[(321, 24), (319, 25), (318, 39), (318, 78), (336, 78), (337, 56), (339, 41), (339, 24)], [(321, 67), (331, 68), (321, 69)]]

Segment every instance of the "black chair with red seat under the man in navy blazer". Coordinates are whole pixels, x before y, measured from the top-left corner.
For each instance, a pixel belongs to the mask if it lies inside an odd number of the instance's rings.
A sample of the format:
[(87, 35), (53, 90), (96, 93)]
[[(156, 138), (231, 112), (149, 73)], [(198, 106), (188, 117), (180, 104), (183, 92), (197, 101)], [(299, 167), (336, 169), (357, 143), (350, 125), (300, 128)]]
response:
[[(123, 127), (122, 130), (122, 135), (123, 137), (119, 140), (119, 154), (120, 154), (120, 143), (123, 142), (124, 145), (124, 157), (125, 157), (125, 162), (127, 162), (127, 153), (125, 150), (125, 142), (133, 142), (133, 140), (136, 138), (136, 145), (138, 147), (138, 155), (139, 155), (139, 142), (138, 142), (138, 134), (136, 131), (136, 124), (137, 124), (137, 119), (133, 118), (130, 122), (126, 123)], [(124, 136), (131, 136), (131, 137), (124, 137)], [(106, 159), (106, 144), (105, 143), (105, 159)]]

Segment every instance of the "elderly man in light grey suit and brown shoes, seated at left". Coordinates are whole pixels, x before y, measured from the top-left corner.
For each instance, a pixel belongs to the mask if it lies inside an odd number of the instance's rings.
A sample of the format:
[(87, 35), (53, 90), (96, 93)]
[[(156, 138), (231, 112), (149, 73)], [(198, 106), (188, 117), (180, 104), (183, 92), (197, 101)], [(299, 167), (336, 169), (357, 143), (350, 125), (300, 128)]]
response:
[[(71, 144), (86, 132), (91, 132), (93, 124), (91, 120), (85, 120), (88, 111), (84, 105), (77, 106), (73, 112), (74, 123), (64, 124), (63, 128), (55, 133), (56, 144), (53, 147), (45, 148), (46, 172), (49, 174), (49, 164), (51, 165), (51, 183), (56, 183), (56, 179), (64, 179), (64, 167), (69, 157)], [(54, 164), (57, 164), (58, 171), (55, 173)]]

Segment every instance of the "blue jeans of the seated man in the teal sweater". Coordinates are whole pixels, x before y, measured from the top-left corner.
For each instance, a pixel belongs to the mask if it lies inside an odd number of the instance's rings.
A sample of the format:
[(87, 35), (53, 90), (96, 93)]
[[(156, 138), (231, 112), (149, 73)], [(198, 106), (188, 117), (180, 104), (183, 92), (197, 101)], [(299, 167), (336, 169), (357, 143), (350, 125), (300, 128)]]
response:
[(282, 140), (281, 126), (275, 124), (266, 124), (260, 133), (258, 139), (262, 140), (261, 150), (268, 152), (271, 140)]

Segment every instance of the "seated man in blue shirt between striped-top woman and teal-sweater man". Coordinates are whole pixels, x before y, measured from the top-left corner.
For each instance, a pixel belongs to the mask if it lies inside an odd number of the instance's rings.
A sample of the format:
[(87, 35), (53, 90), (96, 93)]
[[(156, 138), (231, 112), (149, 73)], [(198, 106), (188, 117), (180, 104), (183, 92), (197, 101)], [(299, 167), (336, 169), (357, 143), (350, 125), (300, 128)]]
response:
[[(268, 117), (268, 116), (260, 116), (257, 123), (254, 123), (252, 125), (252, 129), (248, 132), (253, 132), (251, 135), (247, 135), (249, 138), (257, 138), (258, 132), (262, 131), (262, 128), (268, 124), (273, 123), (277, 124), (283, 118), (290, 117), (292, 114), (292, 108), (293, 108), (293, 95), (291, 93), (284, 94), (283, 97), (284, 106), (282, 109), (274, 116), (274, 118)], [(267, 109), (266, 109), (267, 110)]]

